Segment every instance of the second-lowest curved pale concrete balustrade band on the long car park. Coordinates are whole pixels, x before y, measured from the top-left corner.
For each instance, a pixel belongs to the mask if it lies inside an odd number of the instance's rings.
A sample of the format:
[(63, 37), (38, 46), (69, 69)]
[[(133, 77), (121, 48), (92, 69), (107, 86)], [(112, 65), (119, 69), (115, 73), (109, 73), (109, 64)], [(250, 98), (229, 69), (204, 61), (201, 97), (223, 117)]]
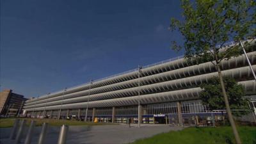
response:
[[(256, 65), (253, 65), (253, 70), (256, 71)], [(241, 68), (234, 68), (231, 70), (224, 70), (222, 72), (223, 76), (230, 76), (235, 79), (241, 79), (243, 77), (252, 77), (252, 72), (250, 67), (241, 67)], [(182, 79), (176, 79), (173, 81), (166, 81), (163, 83), (155, 83), (155, 84), (148, 84), (145, 86), (140, 86), (141, 95), (144, 93), (157, 93), (163, 91), (172, 91), (178, 89), (185, 89), (199, 86), (202, 83), (207, 83), (211, 77), (218, 76), (218, 72), (212, 72), (210, 74), (203, 74), (200, 76), (193, 76), (193, 77), (186, 77)], [(138, 87), (135, 88), (127, 88), (124, 90), (117, 90), (114, 92), (107, 92), (107, 93), (99, 93), (95, 95), (90, 95), (90, 101), (95, 100), (104, 100), (104, 99), (116, 99), (120, 97), (129, 97), (138, 95)], [(41, 104), (33, 104), (31, 106), (24, 106), (24, 108), (37, 108), (41, 106), (53, 106), (58, 104), (70, 104), (75, 102), (85, 102), (88, 100), (88, 95), (82, 97), (76, 97), (73, 99), (59, 99), (49, 100), (48, 102), (41, 103)]]

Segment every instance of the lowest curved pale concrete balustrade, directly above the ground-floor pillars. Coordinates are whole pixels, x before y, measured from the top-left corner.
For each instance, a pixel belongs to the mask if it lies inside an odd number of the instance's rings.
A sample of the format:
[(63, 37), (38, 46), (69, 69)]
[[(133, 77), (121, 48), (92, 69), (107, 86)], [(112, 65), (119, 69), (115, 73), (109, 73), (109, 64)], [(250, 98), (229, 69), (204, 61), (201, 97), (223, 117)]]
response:
[[(242, 81), (239, 82), (242, 84), (246, 90), (246, 94), (255, 93), (256, 92), (256, 82), (252, 81)], [(251, 89), (252, 92), (248, 92), (247, 90)], [(90, 102), (88, 108), (102, 108), (102, 107), (113, 107), (113, 106), (131, 106), (138, 104), (138, 100), (140, 99), (141, 104), (151, 104), (151, 103), (159, 103), (159, 102), (172, 102), (177, 100), (192, 100), (198, 99), (199, 93), (202, 91), (201, 88), (189, 88), (185, 90), (176, 90), (172, 92), (162, 92), (162, 93), (153, 93), (148, 95), (141, 95), (140, 98), (138, 96), (134, 97), (124, 97), (117, 99), (107, 99), (107, 100), (97, 100)], [(74, 104), (63, 104), (58, 106), (47, 106), (40, 108), (29, 108), (26, 111), (43, 111), (43, 110), (56, 110), (56, 109), (79, 109), (86, 108), (87, 102), (79, 102)]]

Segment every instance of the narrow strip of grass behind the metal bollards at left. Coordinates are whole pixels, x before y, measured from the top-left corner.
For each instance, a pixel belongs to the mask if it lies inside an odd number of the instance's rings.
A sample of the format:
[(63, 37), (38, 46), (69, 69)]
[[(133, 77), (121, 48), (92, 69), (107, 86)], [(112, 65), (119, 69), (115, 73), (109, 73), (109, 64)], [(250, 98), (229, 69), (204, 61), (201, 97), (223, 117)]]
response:
[[(49, 125), (54, 126), (60, 126), (60, 125), (109, 125), (111, 123), (93, 123), (93, 122), (81, 122), (81, 121), (75, 121), (75, 120), (55, 120), (50, 118), (20, 118), (20, 119), (26, 119), (27, 125), (30, 124), (31, 120), (36, 121), (36, 125), (42, 125), (43, 122), (49, 123)], [(3, 127), (12, 127), (14, 123), (15, 118), (1, 118), (0, 119), (0, 128)]]

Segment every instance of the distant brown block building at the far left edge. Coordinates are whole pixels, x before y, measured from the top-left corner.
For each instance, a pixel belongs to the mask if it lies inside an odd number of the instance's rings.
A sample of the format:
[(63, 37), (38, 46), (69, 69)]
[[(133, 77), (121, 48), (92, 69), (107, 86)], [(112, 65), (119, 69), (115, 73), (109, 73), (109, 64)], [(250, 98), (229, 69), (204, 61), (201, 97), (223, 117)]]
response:
[(15, 116), (28, 100), (23, 95), (13, 93), (12, 90), (3, 90), (0, 92), (0, 114), (6, 116)]

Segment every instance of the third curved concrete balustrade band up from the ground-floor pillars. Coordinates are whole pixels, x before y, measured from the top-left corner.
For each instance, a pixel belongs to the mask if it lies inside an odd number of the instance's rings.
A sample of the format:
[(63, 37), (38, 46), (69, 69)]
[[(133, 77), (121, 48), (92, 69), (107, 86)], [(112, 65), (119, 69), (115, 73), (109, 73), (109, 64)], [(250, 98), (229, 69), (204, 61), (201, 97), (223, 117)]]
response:
[[(256, 62), (256, 52), (250, 52), (248, 54), (250, 60), (252, 61), (252, 63)], [(237, 65), (246, 65), (245, 61), (246, 58), (244, 55), (242, 56), (238, 56), (236, 58), (231, 58), (228, 61), (223, 61), (221, 63), (223, 69), (228, 69), (231, 66), (233, 67), (237, 67)], [(211, 62), (207, 62), (207, 63), (202, 63), (200, 65), (193, 65), (190, 67), (186, 67), (186, 68), (180, 68), (177, 70), (172, 70), (172, 71), (168, 71), (168, 72), (163, 72), (160, 74), (156, 74), (156, 75), (152, 75), (152, 76), (147, 76), (147, 77), (141, 77), (140, 78), (140, 84), (146, 85), (146, 84), (154, 84), (154, 83), (161, 83), (162, 81), (172, 81), (175, 79), (180, 79), (180, 78), (188, 78), (191, 76), (195, 76), (198, 74), (205, 74), (208, 72), (215, 72), (215, 68), (214, 65), (212, 65)], [(200, 75), (199, 75), (200, 76)], [(118, 90), (125, 90), (127, 88), (132, 88), (132, 87), (136, 87), (138, 86), (138, 79), (132, 79), (130, 81), (124, 81), (121, 83), (116, 83), (116, 84), (110, 84), (108, 86), (102, 86), (99, 88), (92, 88), (90, 90), (91, 95), (93, 94), (97, 94), (97, 93), (102, 93), (103, 95), (105, 95), (108, 92), (115, 92)], [(52, 97), (49, 99), (45, 99), (45, 100), (38, 100), (36, 102), (28, 102), (25, 104), (25, 106), (31, 106), (34, 104), (40, 104), (40, 103), (44, 103), (44, 102), (52, 102), (55, 100), (62, 100), (62, 99), (71, 99), (71, 98), (75, 98), (75, 97), (81, 97), (84, 95), (88, 95), (89, 90), (84, 90), (81, 92), (76, 92), (76, 93), (70, 93), (70, 94), (66, 94), (66, 95), (61, 95), (58, 97)]]

